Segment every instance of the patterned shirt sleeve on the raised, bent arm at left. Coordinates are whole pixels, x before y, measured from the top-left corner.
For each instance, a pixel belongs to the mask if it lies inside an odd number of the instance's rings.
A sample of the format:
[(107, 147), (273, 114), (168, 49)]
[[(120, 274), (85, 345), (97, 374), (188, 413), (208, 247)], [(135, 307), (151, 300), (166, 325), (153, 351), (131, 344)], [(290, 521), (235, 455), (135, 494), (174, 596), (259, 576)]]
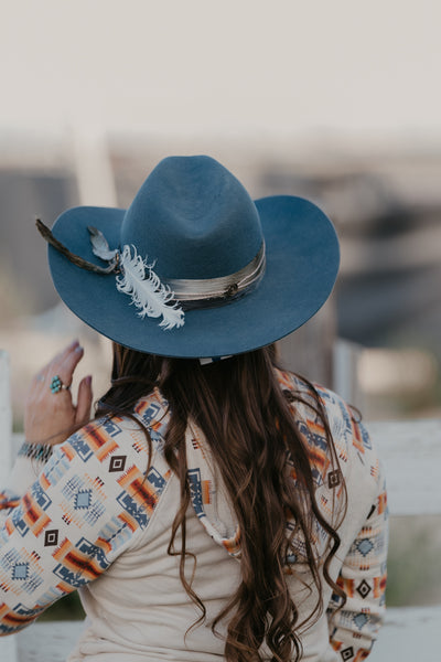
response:
[(97, 420), (55, 447), (23, 496), (3, 492), (0, 634), (96, 579), (146, 530), (168, 481), (148, 465), (139, 426)]

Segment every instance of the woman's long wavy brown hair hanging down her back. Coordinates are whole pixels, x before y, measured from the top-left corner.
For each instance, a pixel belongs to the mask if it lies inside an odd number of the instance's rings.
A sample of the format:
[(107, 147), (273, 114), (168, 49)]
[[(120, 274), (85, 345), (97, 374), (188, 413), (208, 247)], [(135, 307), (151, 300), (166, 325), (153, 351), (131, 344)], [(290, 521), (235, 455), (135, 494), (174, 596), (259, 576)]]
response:
[[(340, 545), (337, 525), (327, 522), (318, 506), (309, 447), (293, 417), (295, 403), (302, 396), (292, 389), (283, 392), (275, 369), (273, 345), (202, 366), (198, 360), (155, 356), (114, 344), (111, 387), (96, 412), (97, 417), (115, 414), (132, 417), (135, 404), (155, 386), (169, 403), (171, 419), (164, 453), (181, 484), (169, 554), (181, 556), (181, 581), (201, 609), (197, 623), (204, 620), (205, 608), (192, 589), (197, 559), (187, 549), (185, 535), (185, 512), (191, 500), (185, 453), (189, 419), (203, 431), (240, 531), (240, 584), (212, 624), (216, 633), (220, 620), (227, 623), (227, 662), (260, 662), (262, 644), (268, 647), (275, 662), (301, 658), (298, 631), (305, 621), (300, 622), (298, 606), (287, 585), (288, 573), (295, 572), (294, 536), (304, 542), (304, 562), (319, 595), (306, 621), (322, 613), (322, 575), (343, 604), (345, 600), (329, 573)], [(325, 412), (312, 384), (305, 383), (312, 396), (308, 405), (325, 429), (331, 460), (337, 468)], [(146, 436), (151, 449), (147, 429)], [(288, 477), (287, 458), (295, 468), (295, 484)], [(290, 535), (287, 535), (287, 520), (294, 523)], [(319, 558), (311, 542), (318, 524), (329, 536), (325, 558)], [(179, 531), (182, 542), (176, 551)], [(186, 573), (185, 563), (190, 559), (193, 567)]]

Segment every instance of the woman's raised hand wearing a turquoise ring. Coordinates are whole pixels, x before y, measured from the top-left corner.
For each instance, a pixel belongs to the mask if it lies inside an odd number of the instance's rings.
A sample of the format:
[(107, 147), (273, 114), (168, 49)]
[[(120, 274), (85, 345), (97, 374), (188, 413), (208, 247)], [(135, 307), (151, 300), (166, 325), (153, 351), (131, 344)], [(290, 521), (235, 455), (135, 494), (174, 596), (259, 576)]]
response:
[[(79, 383), (76, 406), (68, 388), (83, 354), (83, 348), (75, 341), (33, 378), (24, 410), (24, 434), (30, 444), (62, 444), (89, 420), (92, 377)], [(55, 376), (60, 377), (63, 387), (53, 393), (51, 384)], [(56, 388), (56, 384), (53, 386)]]

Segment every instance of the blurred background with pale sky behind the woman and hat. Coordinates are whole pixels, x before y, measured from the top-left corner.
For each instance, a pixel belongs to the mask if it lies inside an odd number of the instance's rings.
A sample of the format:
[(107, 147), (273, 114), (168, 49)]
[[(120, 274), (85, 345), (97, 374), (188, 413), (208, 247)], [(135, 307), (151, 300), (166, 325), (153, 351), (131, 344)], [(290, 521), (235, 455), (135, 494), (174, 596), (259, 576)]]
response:
[[(58, 301), (35, 217), (125, 207), (172, 153), (208, 153), (254, 197), (303, 195), (335, 223), (340, 280), (282, 345), (287, 363), (367, 419), (439, 416), (439, 3), (0, 0), (0, 348), (17, 431), (30, 376), (72, 339), (96, 396), (109, 378), (109, 344)], [(437, 531), (418, 532), (429, 560)], [(407, 525), (392, 553), (405, 542)], [(410, 556), (399, 558), (406, 567)], [(397, 580), (391, 600), (418, 602), (421, 590), (421, 575)], [(423, 592), (440, 600), (433, 583)]]

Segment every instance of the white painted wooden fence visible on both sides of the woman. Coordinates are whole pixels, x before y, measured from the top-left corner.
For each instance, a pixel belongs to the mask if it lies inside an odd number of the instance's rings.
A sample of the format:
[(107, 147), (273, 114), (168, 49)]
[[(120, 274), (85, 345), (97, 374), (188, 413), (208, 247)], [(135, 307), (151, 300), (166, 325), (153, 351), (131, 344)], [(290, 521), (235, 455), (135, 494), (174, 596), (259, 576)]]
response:
[[(4, 353), (0, 353), (0, 476), (4, 476), (12, 459)], [(441, 515), (441, 421), (381, 421), (368, 427), (385, 463), (390, 513)], [(63, 662), (82, 627), (74, 621), (36, 623), (3, 637), (0, 662)], [(439, 662), (440, 632), (441, 605), (388, 609), (369, 662)]]

